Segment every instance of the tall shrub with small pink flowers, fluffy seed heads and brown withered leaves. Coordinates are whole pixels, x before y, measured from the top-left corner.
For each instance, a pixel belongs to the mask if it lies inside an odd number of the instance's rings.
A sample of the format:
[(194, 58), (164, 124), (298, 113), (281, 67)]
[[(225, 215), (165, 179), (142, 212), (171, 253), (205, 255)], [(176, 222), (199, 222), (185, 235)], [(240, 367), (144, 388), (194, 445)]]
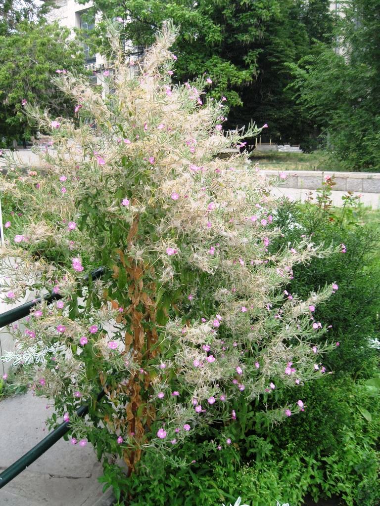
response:
[[(215, 450), (233, 446), (232, 402), (275, 402), (279, 389), (323, 374), (321, 355), (335, 346), (313, 314), (338, 286), (306, 300), (281, 291), (295, 264), (326, 252), (305, 237), (270, 254), (276, 201), (244, 153), (217, 157), (241, 146), (238, 132), (222, 132), (225, 99), (203, 103), (202, 81), (171, 85), (174, 37), (167, 26), (139, 71), (114, 44), (105, 98), (60, 74), (78, 124), (25, 104), (54, 149), (26, 174), (10, 161), (3, 179), (29, 219), (6, 229), (3, 257), (22, 259), (6, 297), (22, 295), (31, 271), (34, 289), (62, 296), (14, 329), (5, 358), (54, 399), (52, 425), (69, 420), (72, 444), (91, 441), (108, 471), (108, 455), (122, 455), (128, 475), (144, 448), (174, 452), (210, 425)], [(89, 264), (106, 274), (84, 286)], [(88, 400), (81, 420), (75, 410)], [(299, 399), (264, 416), (274, 423), (305, 408)]]

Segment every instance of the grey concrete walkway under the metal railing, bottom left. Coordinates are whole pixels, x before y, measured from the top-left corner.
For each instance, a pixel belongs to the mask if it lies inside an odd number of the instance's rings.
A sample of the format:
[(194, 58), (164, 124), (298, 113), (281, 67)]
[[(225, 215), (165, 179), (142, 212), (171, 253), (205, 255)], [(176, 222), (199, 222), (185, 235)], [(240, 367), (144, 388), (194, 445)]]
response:
[[(46, 400), (31, 394), (0, 402), (0, 472), (47, 434)], [(45, 430), (44, 430), (45, 429)], [(61, 439), (0, 490), (1, 506), (110, 506), (97, 481), (102, 468), (90, 444)]]

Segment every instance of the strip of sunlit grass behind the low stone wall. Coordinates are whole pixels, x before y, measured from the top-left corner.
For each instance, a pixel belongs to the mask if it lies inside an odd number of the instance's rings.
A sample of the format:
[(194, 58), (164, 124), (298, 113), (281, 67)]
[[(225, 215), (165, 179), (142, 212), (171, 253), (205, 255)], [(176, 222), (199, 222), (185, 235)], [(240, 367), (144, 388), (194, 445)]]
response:
[(283, 153), (280, 151), (252, 151), (250, 159), (260, 168), (269, 171), (339, 171), (323, 151), (313, 153)]

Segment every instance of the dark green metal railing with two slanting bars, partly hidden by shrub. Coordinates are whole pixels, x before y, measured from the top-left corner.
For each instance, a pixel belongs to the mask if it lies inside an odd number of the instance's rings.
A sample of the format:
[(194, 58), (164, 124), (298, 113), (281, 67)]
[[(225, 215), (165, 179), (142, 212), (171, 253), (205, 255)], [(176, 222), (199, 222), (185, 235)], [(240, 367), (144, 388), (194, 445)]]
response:
[[(104, 267), (99, 267), (95, 269), (90, 274), (84, 277), (85, 281), (88, 281), (90, 276), (92, 279), (100, 278), (105, 272)], [(27, 302), (18, 308), (11, 309), (6, 313), (0, 315), (0, 328), (15, 321), (27, 316), (30, 313), (30, 309), (37, 304), (40, 304), (42, 301), (46, 301), (48, 304), (61, 299), (62, 296), (59, 293), (49, 293), (45, 297), (40, 297), (35, 299), (34, 301)], [(102, 397), (104, 397), (105, 392), (102, 390), (98, 393), (97, 401), (100, 401)], [(89, 411), (89, 404), (85, 404), (81, 406), (77, 410), (77, 415), (80, 417), (85, 416)], [(51, 448), (61, 437), (63, 437), (70, 430), (70, 422), (66, 421), (62, 423), (59, 427), (54, 429), (50, 434), (46, 436), (42, 441), (37, 443), (31, 450), (26, 452), (22, 457), (20, 457), (16, 462), (14, 462), (11, 466), (9, 466), (3, 473), (0, 473), (0, 488), (4, 487), (9, 483), (13, 478), (22, 473), (24, 469), (26, 469), (32, 462), (34, 462), (37, 458), (39, 458), (43, 453), (46, 452), (49, 448)]]

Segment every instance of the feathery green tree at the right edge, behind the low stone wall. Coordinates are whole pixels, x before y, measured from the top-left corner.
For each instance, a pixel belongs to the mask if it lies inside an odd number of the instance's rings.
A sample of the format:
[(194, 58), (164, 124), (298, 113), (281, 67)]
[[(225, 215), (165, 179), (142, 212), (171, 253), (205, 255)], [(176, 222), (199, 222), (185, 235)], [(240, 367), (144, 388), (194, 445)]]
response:
[(379, 0), (347, 2), (336, 47), (320, 44), (294, 69), (298, 103), (350, 171), (380, 170), (379, 19)]

